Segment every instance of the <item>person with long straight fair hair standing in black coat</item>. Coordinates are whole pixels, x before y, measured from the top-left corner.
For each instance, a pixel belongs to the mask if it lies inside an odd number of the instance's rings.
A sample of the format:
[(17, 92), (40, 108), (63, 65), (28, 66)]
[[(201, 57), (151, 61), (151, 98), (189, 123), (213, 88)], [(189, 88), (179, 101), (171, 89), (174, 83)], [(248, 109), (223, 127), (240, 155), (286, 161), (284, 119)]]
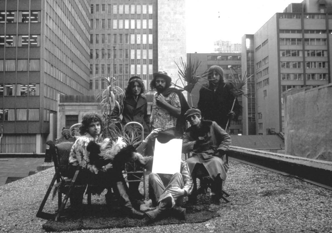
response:
[(207, 71), (208, 87), (201, 88), (197, 108), (201, 110), (205, 120), (215, 121), (224, 129), (228, 119), (234, 119), (239, 115), (241, 106), (236, 100), (231, 111), (236, 96), (231, 92), (234, 89), (233, 84), (226, 82), (224, 78), (223, 69), (212, 65)]

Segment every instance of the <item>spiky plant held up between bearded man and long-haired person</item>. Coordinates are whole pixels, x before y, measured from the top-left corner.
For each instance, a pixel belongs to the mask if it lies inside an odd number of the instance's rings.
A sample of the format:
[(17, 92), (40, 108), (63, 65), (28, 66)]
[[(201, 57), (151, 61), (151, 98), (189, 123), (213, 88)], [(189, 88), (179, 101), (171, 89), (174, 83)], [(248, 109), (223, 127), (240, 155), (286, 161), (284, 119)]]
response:
[[(190, 55), (189, 55), (189, 61), (187, 63), (185, 63), (182, 57), (180, 57), (180, 65), (178, 65), (178, 63), (176, 62), (175, 64), (178, 67), (178, 76), (179, 76), (178, 80), (182, 82), (182, 85), (184, 86), (183, 90), (190, 93), (191, 105), (193, 105), (191, 91), (193, 90), (194, 86), (198, 83), (199, 79), (207, 76), (207, 73), (205, 72), (200, 76), (196, 75), (196, 71), (198, 67), (201, 65), (201, 61), (198, 61), (196, 59), (192, 60)], [(173, 85), (177, 86), (176, 83)]]

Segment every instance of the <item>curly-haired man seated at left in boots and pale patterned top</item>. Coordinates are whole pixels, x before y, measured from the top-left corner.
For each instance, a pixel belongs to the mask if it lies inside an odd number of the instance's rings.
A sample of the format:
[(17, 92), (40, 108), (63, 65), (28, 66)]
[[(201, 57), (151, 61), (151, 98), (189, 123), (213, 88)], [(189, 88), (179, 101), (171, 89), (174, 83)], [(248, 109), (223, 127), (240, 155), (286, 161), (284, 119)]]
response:
[[(98, 141), (98, 136), (103, 128), (103, 120), (100, 115), (90, 113), (82, 117), (82, 126), (79, 129), (80, 137), (77, 138), (71, 148), (69, 155), (69, 164), (73, 166), (81, 166), (76, 181), (79, 183), (93, 183), (102, 187), (112, 187), (118, 191), (123, 200), (125, 210), (132, 217), (142, 218), (144, 214), (134, 209), (127, 194), (127, 186), (122, 175), (122, 169), (114, 167), (112, 163), (103, 166), (101, 169), (90, 163), (90, 152), (87, 145), (90, 141)], [(75, 190), (74, 190), (75, 191)], [(84, 193), (84, 190), (83, 190)], [(70, 203), (78, 205), (82, 203), (82, 191), (73, 192), (70, 196)]]

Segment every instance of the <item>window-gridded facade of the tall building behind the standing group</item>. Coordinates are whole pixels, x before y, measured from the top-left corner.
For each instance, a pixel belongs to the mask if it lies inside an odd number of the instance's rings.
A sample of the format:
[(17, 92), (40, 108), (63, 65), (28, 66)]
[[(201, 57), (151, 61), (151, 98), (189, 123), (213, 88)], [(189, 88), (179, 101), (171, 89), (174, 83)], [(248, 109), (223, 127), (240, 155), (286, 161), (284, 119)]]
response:
[(158, 69), (157, 0), (92, 0), (90, 13), (90, 93), (105, 89), (101, 77), (124, 88), (138, 75), (148, 88)]

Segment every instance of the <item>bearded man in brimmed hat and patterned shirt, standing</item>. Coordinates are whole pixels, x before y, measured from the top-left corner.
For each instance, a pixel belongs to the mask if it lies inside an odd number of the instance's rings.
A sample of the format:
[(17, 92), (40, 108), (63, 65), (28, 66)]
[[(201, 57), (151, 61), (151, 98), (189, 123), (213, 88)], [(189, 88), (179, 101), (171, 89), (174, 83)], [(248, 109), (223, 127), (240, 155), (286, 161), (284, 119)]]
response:
[(150, 87), (156, 89), (157, 93), (153, 96), (150, 122), (152, 128), (160, 128), (160, 134), (164, 136), (181, 137), (186, 128), (183, 115), (189, 105), (180, 90), (170, 87), (171, 81), (165, 71), (153, 74)]

